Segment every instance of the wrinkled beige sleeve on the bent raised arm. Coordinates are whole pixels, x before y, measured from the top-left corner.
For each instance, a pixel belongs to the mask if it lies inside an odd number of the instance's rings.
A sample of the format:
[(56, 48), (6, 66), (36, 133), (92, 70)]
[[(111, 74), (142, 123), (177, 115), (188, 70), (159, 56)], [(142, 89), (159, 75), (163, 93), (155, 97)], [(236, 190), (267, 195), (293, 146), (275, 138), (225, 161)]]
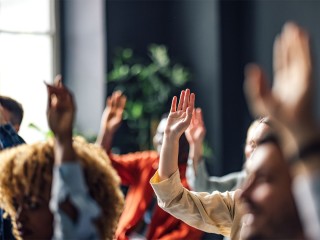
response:
[(158, 204), (166, 212), (205, 232), (230, 236), (235, 214), (235, 192), (211, 194), (184, 188), (177, 170), (170, 178), (159, 181), (158, 172), (150, 180)]

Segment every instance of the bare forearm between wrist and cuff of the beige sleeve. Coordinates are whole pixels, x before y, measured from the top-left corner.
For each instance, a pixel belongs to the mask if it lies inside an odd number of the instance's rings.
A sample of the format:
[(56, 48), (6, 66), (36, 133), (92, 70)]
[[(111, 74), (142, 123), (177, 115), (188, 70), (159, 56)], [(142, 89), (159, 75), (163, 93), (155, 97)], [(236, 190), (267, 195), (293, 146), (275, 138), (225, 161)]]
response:
[(178, 169), (179, 138), (164, 135), (160, 153), (159, 177), (169, 178)]

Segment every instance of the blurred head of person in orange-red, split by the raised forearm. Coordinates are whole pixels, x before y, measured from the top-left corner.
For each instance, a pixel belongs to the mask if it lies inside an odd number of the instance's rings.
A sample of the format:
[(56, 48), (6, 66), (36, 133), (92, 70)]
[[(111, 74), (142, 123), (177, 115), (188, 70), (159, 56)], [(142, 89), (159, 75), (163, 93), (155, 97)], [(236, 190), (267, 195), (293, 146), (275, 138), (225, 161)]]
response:
[[(157, 132), (153, 137), (153, 146), (157, 150), (158, 153), (161, 151), (162, 142), (163, 142), (163, 136), (164, 136), (164, 130), (166, 128), (167, 119), (164, 118), (160, 121)], [(188, 161), (188, 155), (189, 155), (189, 143), (185, 136), (185, 134), (182, 134), (179, 139), (179, 156), (178, 156), (178, 162), (179, 163), (186, 163)]]

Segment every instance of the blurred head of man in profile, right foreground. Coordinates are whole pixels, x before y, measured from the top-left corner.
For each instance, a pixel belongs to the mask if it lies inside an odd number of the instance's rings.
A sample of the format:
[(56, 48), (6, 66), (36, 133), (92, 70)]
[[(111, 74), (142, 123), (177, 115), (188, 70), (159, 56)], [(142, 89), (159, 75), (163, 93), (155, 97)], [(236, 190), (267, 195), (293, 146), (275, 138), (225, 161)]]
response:
[(240, 197), (245, 206), (241, 237), (292, 239), (301, 234), (288, 166), (278, 146), (271, 142), (258, 146), (246, 170), (248, 180)]

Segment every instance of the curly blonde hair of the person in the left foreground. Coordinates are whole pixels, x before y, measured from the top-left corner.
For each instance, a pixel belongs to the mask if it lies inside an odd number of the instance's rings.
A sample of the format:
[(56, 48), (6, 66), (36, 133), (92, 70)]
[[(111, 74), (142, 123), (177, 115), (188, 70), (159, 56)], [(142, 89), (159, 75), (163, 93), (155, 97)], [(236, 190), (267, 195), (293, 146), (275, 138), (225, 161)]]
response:
[[(95, 221), (101, 239), (113, 239), (124, 204), (119, 176), (106, 153), (97, 145), (75, 138), (73, 147), (83, 167), (90, 195), (102, 211)], [(19, 238), (13, 200), (21, 194), (39, 196), (44, 188), (51, 187), (53, 141), (4, 150), (0, 153), (0, 159), (0, 207), (10, 215), (15, 237)]]

